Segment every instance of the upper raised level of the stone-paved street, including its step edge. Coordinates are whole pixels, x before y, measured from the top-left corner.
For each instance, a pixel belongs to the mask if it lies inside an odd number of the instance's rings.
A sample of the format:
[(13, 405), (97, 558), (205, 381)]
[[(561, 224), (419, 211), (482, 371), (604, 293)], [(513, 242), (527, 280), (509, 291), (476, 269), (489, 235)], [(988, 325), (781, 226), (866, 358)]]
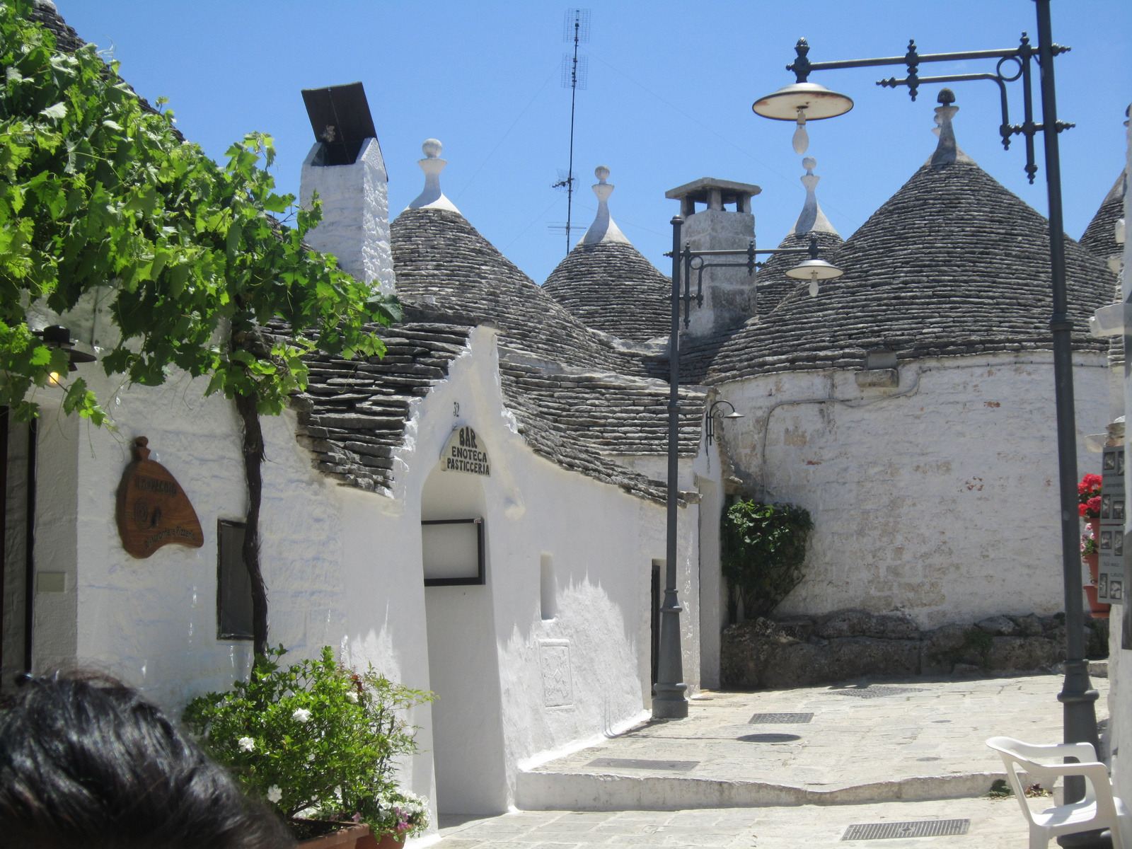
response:
[[(1002, 774), (987, 737), (1061, 739), (1061, 677), (866, 681), (705, 693), (687, 720), (658, 722), (550, 761), (518, 779), (523, 809), (649, 809), (974, 797)], [(1095, 684), (1107, 715), (1107, 679)], [(812, 713), (752, 723), (756, 713)], [(599, 758), (678, 761), (632, 769)], [(600, 777), (600, 778), (598, 778)]]

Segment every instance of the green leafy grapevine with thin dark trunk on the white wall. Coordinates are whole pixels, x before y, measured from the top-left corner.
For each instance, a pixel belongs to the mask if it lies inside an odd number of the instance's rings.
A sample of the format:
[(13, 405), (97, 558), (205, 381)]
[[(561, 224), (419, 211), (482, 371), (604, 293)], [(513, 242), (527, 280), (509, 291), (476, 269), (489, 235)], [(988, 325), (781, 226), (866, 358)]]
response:
[[(98, 398), (67, 354), (44, 345), (32, 315), (65, 314), (101, 293), (120, 338), (108, 375), (155, 386), (174, 369), (207, 376), (245, 427), (256, 652), (266, 648), (259, 575), (260, 414), (306, 387), (305, 353), (381, 355), (372, 323), (400, 318), (334, 257), (307, 247), (320, 220), (277, 195), (269, 136), (233, 144), (218, 165), (183, 142), (172, 112), (148, 109), (86, 45), (68, 53), (31, 19), (29, 0), (0, 0), (0, 406), (38, 413), (37, 388), (62, 375), (63, 410), (96, 424)], [(274, 215), (288, 214), (290, 224)], [(284, 327), (264, 326), (281, 319)]]

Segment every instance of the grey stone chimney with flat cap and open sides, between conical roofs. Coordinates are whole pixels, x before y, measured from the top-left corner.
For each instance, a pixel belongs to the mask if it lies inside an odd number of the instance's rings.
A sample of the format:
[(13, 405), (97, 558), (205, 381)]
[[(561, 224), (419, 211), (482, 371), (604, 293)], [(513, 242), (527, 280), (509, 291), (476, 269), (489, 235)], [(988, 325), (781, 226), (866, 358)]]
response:
[[(751, 183), (703, 177), (666, 191), (664, 197), (680, 201), (684, 241), (693, 250), (745, 250), (755, 238), (751, 198), (761, 191)], [(739, 263), (744, 258), (720, 260)], [(697, 273), (692, 274), (695, 292)], [(737, 327), (755, 315), (755, 281), (746, 268), (707, 268), (703, 280), (704, 303), (692, 310), (691, 335), (706, 336)]]

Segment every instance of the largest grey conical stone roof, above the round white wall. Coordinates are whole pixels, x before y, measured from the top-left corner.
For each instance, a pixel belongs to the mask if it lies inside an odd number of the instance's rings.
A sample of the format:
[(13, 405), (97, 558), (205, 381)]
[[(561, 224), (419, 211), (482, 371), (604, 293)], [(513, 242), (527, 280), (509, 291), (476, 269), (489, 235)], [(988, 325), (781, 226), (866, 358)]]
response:
[[(1103, 352), (1088, 317), (1112, 300), (1105, 264), (1066, 239), (1075, 350)], [(924, 165), (829, 261), (844, 276), (790, 292), (719, 352), (710, 381), (901, 358), (1049, 350), (1048, 222), (967, 156)]]

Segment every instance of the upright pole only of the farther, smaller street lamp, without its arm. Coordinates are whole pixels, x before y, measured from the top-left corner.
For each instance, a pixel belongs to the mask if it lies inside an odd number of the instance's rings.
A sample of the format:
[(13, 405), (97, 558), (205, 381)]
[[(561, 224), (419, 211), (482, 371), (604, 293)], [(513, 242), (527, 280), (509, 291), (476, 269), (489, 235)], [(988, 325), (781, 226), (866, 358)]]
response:
[(680, 226), (684, 218), (672, 217), (672, 333), (668, 343), (668, 547), (664, 555), (664, 601), (660, 606), (660, 659), (657, 683), (652, 688), (653, 719), (684, 719), (688, 700), (684, 697), (684, 660), (680, 657), (680, 602), (676, 597), (676, 522), (679, 496), (680, 436)]

